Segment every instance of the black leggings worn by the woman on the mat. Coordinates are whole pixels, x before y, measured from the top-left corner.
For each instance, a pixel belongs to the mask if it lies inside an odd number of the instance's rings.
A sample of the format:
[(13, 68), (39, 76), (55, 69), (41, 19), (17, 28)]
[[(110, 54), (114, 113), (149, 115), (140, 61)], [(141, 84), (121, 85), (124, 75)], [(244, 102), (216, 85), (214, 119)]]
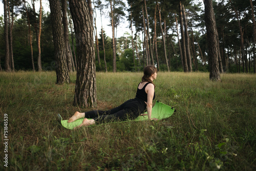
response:
[(136, 119), (146, 109), (146, 103), (138, 98), (125, 101), (120, 106), (109, 111), (89, 111), (85, 118), (94, 119), (95, 122), (111, 122)]

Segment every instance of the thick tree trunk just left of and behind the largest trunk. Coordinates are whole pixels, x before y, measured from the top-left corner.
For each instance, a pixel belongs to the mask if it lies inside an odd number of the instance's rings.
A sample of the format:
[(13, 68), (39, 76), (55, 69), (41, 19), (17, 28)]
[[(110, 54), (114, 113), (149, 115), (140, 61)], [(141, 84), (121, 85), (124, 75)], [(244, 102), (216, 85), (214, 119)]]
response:
[(67, 66), (67, 50), (61, 22), (60, 2), (49, 0), (52, 20), (52, 36), (54, 45), (54, 56), (56, 60), (56, 83), (70, 83)]

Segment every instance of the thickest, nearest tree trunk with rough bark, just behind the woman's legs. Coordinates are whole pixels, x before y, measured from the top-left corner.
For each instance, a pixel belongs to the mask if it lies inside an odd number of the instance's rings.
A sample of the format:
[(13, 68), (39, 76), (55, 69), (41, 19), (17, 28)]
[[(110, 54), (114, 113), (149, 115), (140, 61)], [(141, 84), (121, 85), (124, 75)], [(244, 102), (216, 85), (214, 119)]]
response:
[(96, 68), (93, 20), (86, 0), (69, 0), (77, 45), (77, 74), (74, 105), (96, 107)]

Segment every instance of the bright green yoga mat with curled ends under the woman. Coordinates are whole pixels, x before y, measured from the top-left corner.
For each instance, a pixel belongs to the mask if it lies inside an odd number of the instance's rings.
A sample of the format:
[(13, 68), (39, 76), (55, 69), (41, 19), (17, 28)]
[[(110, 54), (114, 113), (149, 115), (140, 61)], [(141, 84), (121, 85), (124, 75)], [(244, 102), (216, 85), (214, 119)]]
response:
[[(152, 108), (151, 118), (164, 119), (172, 116), (173, 113), (174, 113), (174, 108), (164, 103), (161, 103), (159, 101), (156, 101), (156, 104)], [(60, 116), (60, 114), (58, 114), (58, 120), (62, 126), (66, 127), (67, 129), (73, 130), (75, 126), (78, 126), (82, 123), (83, 118), (77, 119), (74, 122), (68, 123), (68, 120), (62, 120), (62, 117)], [(136, 119), (131, 121), (143, 121), (143, 120), (147, 120), (147, 116), (139, 116)], [(127, 121), (124, 121), (124, 122), (127, 122)]]

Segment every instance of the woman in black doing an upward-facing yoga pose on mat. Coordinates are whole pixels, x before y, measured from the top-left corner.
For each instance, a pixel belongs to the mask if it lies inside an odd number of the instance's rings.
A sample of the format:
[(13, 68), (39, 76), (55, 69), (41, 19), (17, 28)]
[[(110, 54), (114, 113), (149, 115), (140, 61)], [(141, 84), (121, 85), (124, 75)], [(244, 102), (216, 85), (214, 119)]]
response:
[[(68, 123), (74, 122), (77, 119), (84, 118), (82, 123), (77, 126), (93, 125), (96, 122), (110, 122), (112, 120), (128, 120), (136, 119), (147, 110), (148, 120), (157, 120), (151, 118), (153, 100), (155, 99), (155, 85), (153, 80), (157, 78), (157, 69), (154, 66), (146, 66), (144, 68), (144, 75), (138, 85), (136, 97), (125, 101), (117, 108), (109, 111), (89, 111), (86, 113), (76, 112)], [(89, 120), (88, 118), (92, 118)], [(74, 129), (76, 129), (75, 127)]]

